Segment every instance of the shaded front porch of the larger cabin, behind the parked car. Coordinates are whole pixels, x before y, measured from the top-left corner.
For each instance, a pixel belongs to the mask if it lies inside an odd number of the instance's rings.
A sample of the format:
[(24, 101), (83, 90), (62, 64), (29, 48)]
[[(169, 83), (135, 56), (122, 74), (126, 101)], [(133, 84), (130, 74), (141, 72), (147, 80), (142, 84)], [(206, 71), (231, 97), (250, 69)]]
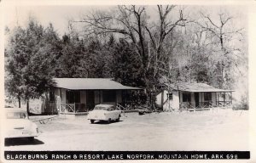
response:
[(66, 103), (57, 104), (57, 107), (61, 113), (88, 112), (93, 110), (96, 104), (113, 104), (115, 107), (126, 108), (139, 104), (136, 100), (139, 94), (139, 90), (66, 90)]

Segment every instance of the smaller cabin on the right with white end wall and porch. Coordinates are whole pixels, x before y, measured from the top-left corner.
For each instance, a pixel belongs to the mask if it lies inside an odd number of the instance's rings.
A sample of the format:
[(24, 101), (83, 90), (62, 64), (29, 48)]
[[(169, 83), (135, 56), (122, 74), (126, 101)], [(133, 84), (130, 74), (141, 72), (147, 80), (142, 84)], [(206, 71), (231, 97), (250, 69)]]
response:
[(155, 104), (164, 111), (230, 107), (232, 92), (205, 83), (165, 84), (157, 94)]

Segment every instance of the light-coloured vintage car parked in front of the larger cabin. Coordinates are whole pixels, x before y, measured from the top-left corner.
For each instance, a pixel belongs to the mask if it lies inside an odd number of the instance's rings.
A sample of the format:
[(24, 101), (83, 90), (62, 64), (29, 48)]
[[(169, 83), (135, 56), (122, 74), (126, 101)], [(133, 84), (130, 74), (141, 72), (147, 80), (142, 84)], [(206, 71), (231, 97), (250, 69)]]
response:
[(94, 121), (119, 121), (122, 111), (116, 110), (112, 104), (97, 104), (87, 116), (90, 123)]

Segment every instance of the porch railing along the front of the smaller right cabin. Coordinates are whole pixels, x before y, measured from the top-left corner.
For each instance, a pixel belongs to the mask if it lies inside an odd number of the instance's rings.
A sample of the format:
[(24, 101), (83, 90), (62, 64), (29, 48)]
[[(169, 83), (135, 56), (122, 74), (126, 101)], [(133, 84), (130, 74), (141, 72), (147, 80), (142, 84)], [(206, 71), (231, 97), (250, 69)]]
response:
[(205, 109), (205, 108), (224, 108), (229, 107), (232, 104), (232, 101), (204, 101), (199, 103), (192, 102), (182, 102), (179, 104), (180, 109)]

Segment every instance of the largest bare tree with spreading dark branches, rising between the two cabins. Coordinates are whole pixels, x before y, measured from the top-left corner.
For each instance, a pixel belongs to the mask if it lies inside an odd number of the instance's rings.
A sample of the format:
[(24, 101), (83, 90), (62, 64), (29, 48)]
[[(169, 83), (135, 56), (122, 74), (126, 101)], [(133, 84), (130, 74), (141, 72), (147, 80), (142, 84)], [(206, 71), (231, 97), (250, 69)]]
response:
[[(87, 34), (116, 33), (131, 40), (137, 48), (137, 54), (143, 66), (148, 70), (154, 66), (154, 76), (157, 72), (157, 63), (162, 57), (163, 43), (176, 26), (185, 26), (183, 10), (179, 10), (177, 19), (169, 17), (174, 5), (158, 5), (158, 21), (149, 22), (146, 7), (118, 6), (116, 13), (96, 12), (80, 22), (87, 24)], [(148, 44), (150, 43), (150, 53)], [(152, 60), (154, 59), (154, 62)], [(154, 65), (150, 65), (154, 63)]]

